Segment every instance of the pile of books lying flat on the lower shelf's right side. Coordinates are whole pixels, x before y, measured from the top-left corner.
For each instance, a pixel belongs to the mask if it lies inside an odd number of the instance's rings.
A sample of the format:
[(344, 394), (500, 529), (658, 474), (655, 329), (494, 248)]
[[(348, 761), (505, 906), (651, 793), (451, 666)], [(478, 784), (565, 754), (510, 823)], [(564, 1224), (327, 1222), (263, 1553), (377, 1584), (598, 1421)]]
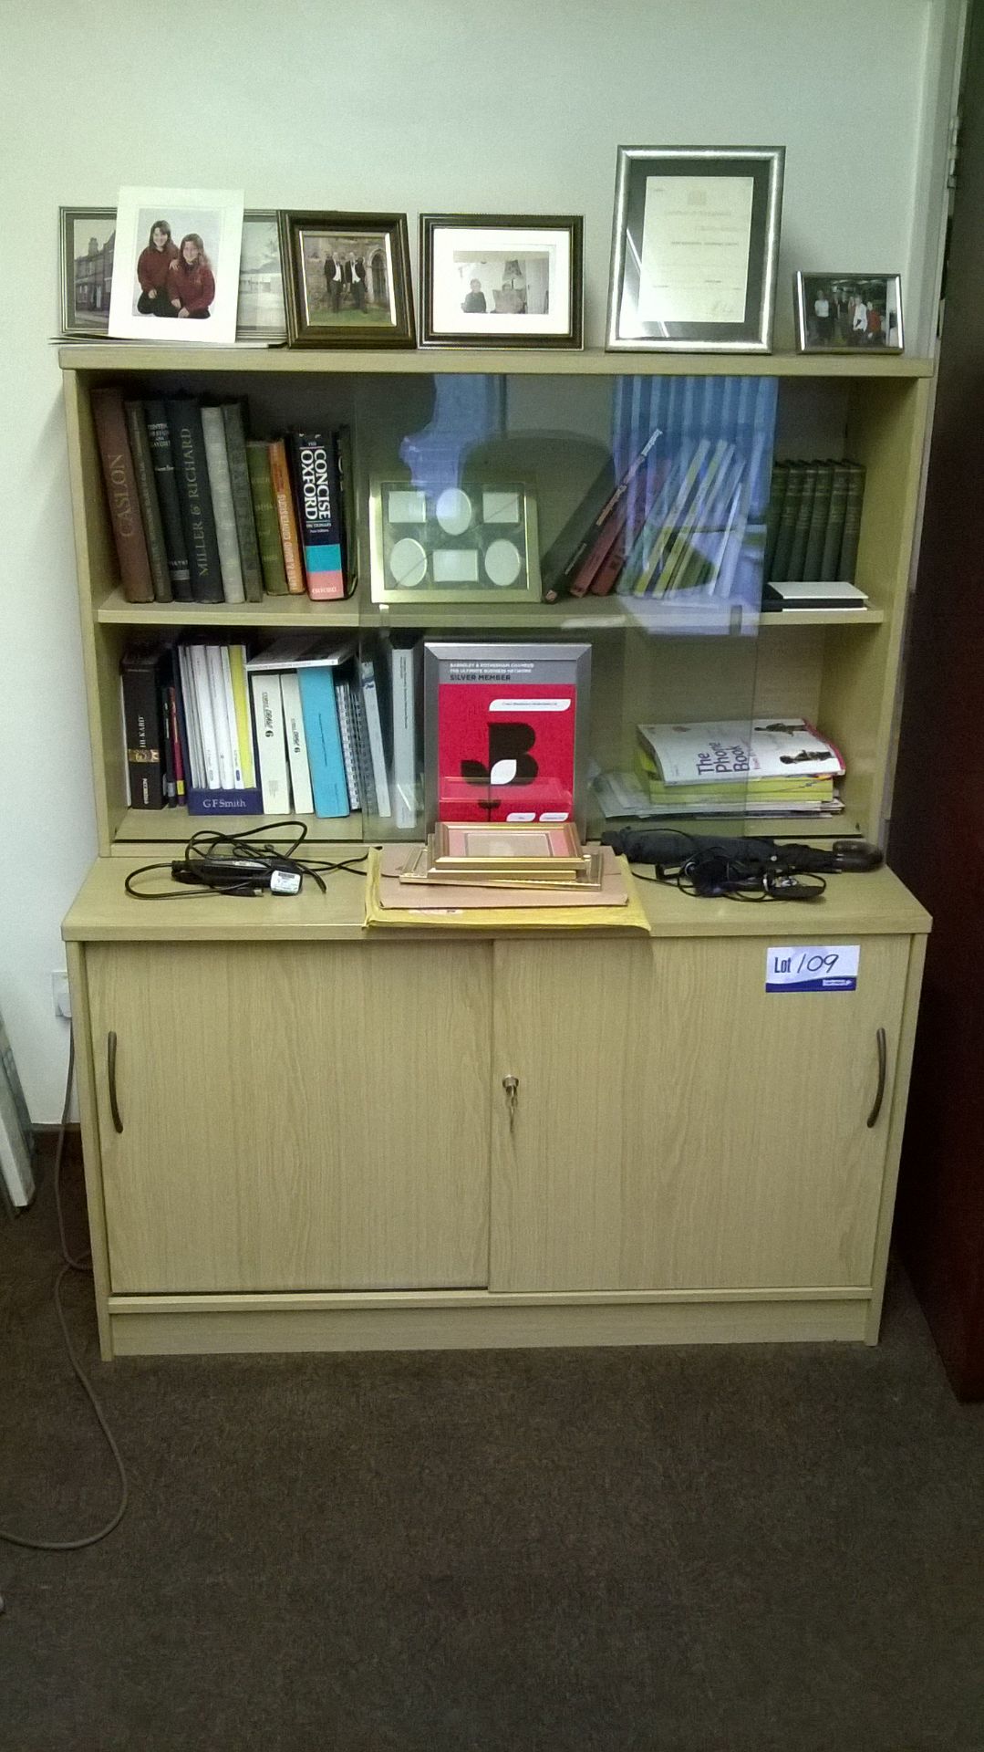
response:
[(844, 760), (805, 718), (639, 724), (650, 815), (839, 815)]

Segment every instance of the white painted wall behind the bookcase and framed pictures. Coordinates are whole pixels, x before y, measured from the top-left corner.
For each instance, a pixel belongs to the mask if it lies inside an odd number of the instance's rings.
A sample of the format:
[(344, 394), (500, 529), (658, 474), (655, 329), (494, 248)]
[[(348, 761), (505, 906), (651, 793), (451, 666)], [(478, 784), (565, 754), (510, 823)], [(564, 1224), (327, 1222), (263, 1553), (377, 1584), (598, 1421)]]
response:
[(210, 184), (249, 207), (581, 212), (602, 338), (618, 144), (784, 144), (776, 343), (802, 268), (898, 268), (931, 333), (961, 0), (100, 0), (4, 7), (0, 1011), (61, 1106), (58, 925), (93, 857), (56, 331), (58, 205)]

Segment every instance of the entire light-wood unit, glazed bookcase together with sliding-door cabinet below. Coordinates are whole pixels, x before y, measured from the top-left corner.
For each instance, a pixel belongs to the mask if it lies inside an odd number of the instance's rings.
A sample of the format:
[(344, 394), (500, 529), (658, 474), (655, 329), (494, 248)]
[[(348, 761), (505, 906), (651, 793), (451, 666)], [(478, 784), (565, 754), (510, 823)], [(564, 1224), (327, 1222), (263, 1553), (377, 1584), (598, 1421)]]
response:
[[(247, 646), (305, 629), (359, 646), (385, 631), (567, 639), (590, 648), (601, 773), (632, 767), (641, 724), (802, 718), (844, 764), (842, 813), (809, 827), (877, 839), (931, 364), (135, 343), (65, 347), (61, 364), (100, 846), (63, 936), (103, 1356), (874, 1342), (930, 925), (889, 871), (835, 876), (814, 908), (646, 885), (646, 930), (564, 939), (373, 930), (352, 872), (324, 895), (306, 883), (292, 899), (145, 906), (128, 871), (173, 855), (203, 818), (128, 808), (119, 659), (145, 632), (194, 629)], [(238, 398), (256, 438), (347, 427), (355, 594), (128, 603), (91, 412), (103, 384)], [(410, 585), (373, 601), (375, 484), (508, 482), (513, 503), (536, 505), (546, 566), (616, 463), (616, 410), (651, 433), (674, 417), (674, 385), (695, 406), (769, 405), (779, 459), (863, 466), (863, 611), (760, 615), (770, 443), (744, 573), (718, 594), (678, 520), (665, 552), (641, 554), (639, 590), (415, 603)], [(744, 491), (728, 431), (700, 452), (725, 524)], [(667, 576), (697, 589), (655, 596)], [(310, 818), (326, 851), (383, 829)], [(769, 829), (798, 837), (804, 822)], [(809, 944), (844, 948), (856, 974), (832, 993), (772, 992), (769, 958), (798, 964)]]

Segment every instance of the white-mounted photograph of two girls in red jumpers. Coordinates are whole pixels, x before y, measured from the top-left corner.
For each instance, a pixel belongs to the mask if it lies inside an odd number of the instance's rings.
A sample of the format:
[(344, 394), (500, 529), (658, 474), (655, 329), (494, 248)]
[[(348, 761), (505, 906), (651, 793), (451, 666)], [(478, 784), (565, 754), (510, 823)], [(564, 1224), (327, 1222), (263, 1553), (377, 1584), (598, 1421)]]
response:
[(242, 189), (121, 189), (109, 333), (233, 345)]

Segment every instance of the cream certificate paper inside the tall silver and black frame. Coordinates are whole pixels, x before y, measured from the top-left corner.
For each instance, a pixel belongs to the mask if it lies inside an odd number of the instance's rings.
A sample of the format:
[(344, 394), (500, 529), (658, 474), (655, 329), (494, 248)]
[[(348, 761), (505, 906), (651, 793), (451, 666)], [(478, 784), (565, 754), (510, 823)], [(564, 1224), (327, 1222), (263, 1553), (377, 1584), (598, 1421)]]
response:
[(646, 177), (641, 322), (744, 322), (753, 177)]

